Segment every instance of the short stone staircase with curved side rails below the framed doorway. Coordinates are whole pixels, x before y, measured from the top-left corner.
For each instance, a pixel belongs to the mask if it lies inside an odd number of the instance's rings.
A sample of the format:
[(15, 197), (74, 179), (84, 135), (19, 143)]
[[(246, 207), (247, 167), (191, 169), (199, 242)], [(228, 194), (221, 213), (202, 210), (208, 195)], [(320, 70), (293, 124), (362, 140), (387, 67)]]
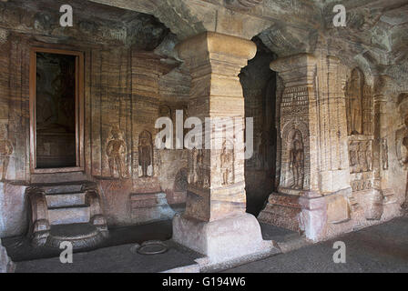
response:
[(108, 235), (97, 187), (89, 181), (32, 184), (29, 237), (35, 246), (97, 246)]

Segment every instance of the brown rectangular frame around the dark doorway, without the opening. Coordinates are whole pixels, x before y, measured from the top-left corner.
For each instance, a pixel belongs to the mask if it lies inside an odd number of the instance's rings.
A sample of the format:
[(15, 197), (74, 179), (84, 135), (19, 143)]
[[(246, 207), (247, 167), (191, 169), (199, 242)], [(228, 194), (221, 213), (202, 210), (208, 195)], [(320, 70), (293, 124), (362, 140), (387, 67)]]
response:
[[(36, 168), (36, 54), (76, 56), (76, 166)], [(79, 172), (85, 170), (84, 157), (84, 53), (63, 49), (32, 47), (30, 51), (30, 171), (33, 174)]]

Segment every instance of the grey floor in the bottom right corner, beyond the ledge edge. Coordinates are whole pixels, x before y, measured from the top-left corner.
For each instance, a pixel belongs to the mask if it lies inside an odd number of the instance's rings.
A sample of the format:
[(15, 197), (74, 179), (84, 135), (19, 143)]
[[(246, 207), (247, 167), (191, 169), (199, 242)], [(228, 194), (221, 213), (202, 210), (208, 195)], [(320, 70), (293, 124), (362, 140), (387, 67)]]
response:
[[(346, 263), (334, 264), (333, 244), (346, 245)], [(395, 218), (317, 245), (235, 267), (227, 273), (408, 272), (408, 217)]]

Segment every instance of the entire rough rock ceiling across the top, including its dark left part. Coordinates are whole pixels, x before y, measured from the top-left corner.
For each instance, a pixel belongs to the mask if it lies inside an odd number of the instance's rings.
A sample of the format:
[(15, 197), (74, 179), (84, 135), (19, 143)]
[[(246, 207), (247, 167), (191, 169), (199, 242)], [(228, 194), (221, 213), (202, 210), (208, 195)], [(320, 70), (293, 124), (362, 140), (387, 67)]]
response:
[[(38, 12), (36, 21), (44, 35), (49, 35), (55, 33), (56, 27), (49, 27), (46, 16), (42, 16), (46, 14), (41, 12), (58, 11), (62, 2), (4, 0), (0, 2), (0, 12), (5, 5), (29, 6)], [(123, 42), (127, 45), (148, 50), (164, 40), (158, 47), (160, 54), (171, 55), (176, 42), (203, 31), (248, 39), (258, 35), (280, 57), (311, 53), (319, 48), (341, 57), (347, 65), (360, 65), (372, 75), (390, 75), (400, 83), (408, 80), (408, 0), (74, 0), (70, 3), (81, 19), (88, 20), (81, 22), (87, 32), (101, 26), (115, 28), (118, 35), (123, 32)], [(345, 27), (332, 24), (333, 6), (338, 4), (346, 8)], [(93, 13), (89, 15), (86, 8), (91, 6)], [(11, 16), (3, 16), (7, 17)], [(0, 23), (1, 20), (0, 17)]]

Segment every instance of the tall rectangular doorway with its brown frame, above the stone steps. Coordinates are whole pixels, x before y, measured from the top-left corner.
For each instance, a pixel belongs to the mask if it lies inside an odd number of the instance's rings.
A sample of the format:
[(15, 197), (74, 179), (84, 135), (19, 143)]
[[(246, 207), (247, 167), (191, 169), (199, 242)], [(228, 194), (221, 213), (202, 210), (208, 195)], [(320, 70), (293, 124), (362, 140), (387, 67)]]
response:
[(33, 48), (30, 66), (32, 172), (83, 170), (83, 54)]

